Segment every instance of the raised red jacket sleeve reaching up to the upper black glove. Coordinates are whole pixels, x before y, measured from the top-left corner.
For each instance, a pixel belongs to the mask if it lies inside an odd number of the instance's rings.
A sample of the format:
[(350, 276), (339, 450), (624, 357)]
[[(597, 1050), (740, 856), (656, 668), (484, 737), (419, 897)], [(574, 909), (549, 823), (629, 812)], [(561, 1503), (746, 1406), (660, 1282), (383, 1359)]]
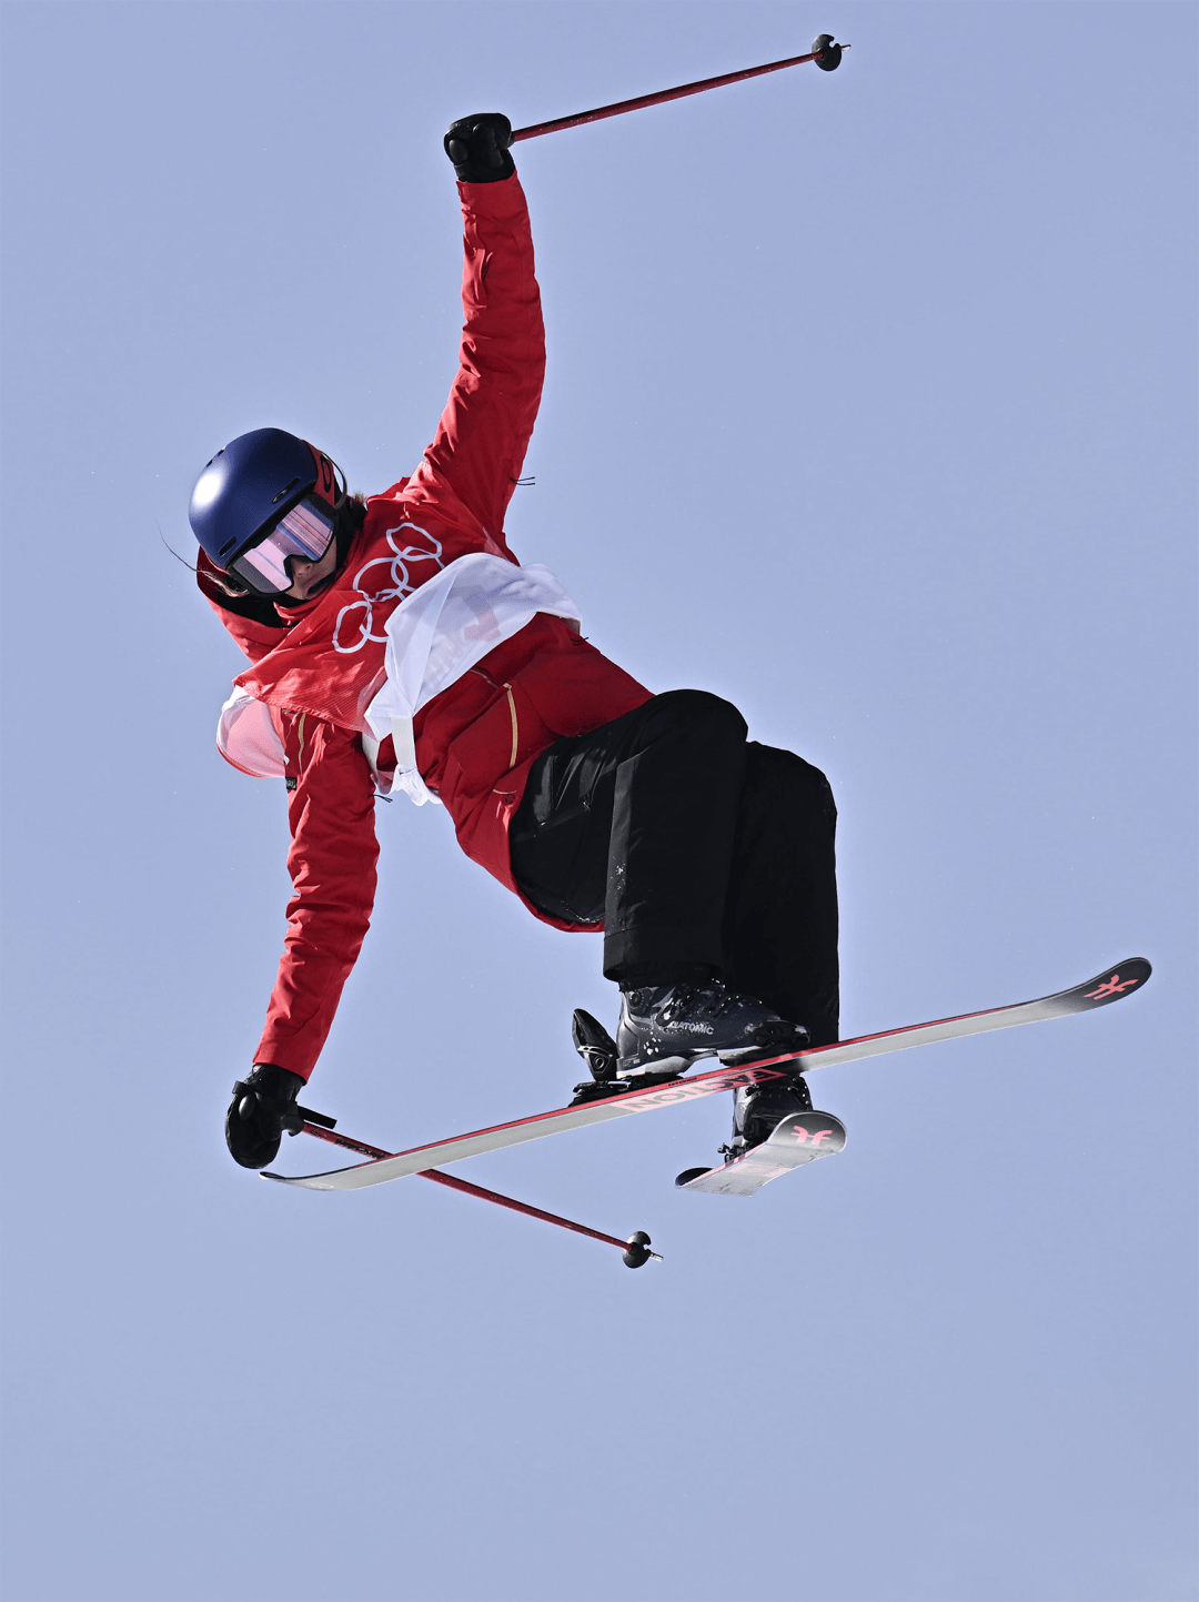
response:
[(436, 501), (447, 487), (503, 548), (503, 514), (542, 399), (542, 300), (519, 178), (458, 184), (458, 194), (465, 219), (458, 375), (410, 490)]

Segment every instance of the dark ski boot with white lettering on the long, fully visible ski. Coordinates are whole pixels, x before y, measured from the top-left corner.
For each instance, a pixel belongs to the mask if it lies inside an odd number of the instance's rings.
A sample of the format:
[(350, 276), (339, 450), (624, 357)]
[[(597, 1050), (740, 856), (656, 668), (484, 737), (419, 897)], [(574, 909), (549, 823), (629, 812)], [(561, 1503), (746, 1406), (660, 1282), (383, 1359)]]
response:
[(808, 1030), (710, 979), (624, 992), (616, 1045), (617, 1078), (646, 1083), (648, 1073), (675, 1078), (697, 1057), (737, 1062), (745, 1054), (803, 1051)]

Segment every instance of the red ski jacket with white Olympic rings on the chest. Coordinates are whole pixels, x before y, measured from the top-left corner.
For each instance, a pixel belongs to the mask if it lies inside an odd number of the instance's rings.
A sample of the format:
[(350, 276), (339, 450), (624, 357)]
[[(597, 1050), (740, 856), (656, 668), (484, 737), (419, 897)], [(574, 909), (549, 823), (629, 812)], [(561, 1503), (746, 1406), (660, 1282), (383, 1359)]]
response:
[[(383, 625), (404, 596), (460, 556), (486, 551), (516, 562), (503, 514), (545, 372), (529, 215), (516, 178), (458, 184), (458, 373), (417, 471), (367, 500), (338, 578), (305, 606), (272, 607), (277, 622), (240, 615), (204, 556), (199, 564), (202, 593), (252, 662), (236, 682), (271, 710), (285, 753), (292, 899), (253, 1061), (303, 1078), (325, 1043), (375, 899), (375, 783), (362, 734), (385, 678)], [(529, 767), (559, 735), (596, 729), (646, 700), (649, 690), (567, 622), (537, 614), (417, 713), (417, 767), (466, 855), (519, 896), (508, 825)]]

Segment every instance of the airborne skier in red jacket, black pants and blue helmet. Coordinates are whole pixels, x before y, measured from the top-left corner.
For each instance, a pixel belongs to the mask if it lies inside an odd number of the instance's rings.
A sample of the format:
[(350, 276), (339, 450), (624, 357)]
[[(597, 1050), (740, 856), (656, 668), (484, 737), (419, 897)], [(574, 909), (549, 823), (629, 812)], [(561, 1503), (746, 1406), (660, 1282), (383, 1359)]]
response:
[[(837, 1040), (824, 774), (749, 742), (717, 695), (638, 684), (582, 636), (555, 575), (508, 549), (545, 365), (510, 139), (499, 114), (444, 139), (465, 218), (465, 327), (412, 477), (364, 500), (316, 447), (263, 428), (220, 450), (192, 492), (200, 591), (250, 660), (218, 747), (289, 793), (287, 939), (226, 1118), (245, 1168), (301, 1126), (297, 1096), (370, 920), (375, 793), (439, 803), (466, 855), (534, 916), (603, 931), (619, 1061), (577, 1016), (575, 1045), (593, 1072), (606, 1064), (580, 1099), (672, 1078), (699, 1056)], [(734, 1150), (806, 1105), (803, 1081), (737, 1093)]]

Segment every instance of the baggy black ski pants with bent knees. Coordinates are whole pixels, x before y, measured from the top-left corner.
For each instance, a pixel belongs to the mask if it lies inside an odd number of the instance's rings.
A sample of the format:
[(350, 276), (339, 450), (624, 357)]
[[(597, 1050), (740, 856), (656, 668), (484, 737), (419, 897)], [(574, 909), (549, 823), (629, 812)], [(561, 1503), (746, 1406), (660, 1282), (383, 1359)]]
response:
[(818, 767), (745, 735), (718, 695), (670, 690), (556, 740), (511, 823), (513, 875), (540, 912), (603, 923), (608, 979), (717, 972), (827, 1045), (837, 807)]

